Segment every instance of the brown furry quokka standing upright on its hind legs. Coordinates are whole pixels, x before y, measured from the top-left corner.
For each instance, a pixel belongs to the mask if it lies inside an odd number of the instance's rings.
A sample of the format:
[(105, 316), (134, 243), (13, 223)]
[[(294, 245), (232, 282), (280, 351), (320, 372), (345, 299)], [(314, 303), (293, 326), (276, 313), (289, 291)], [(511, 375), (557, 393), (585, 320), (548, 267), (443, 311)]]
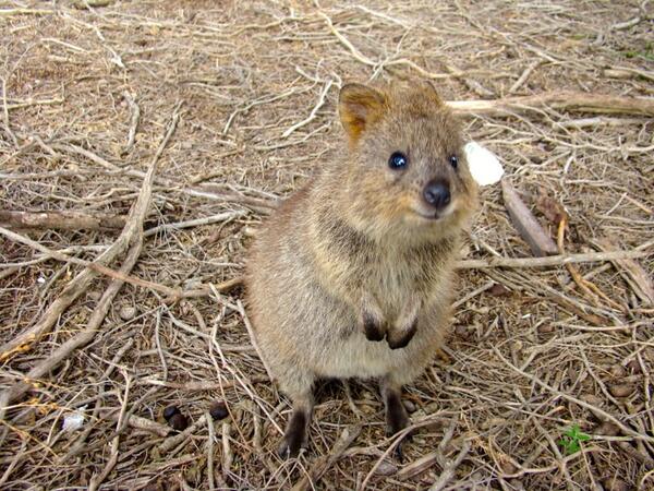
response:
[(389, 434), (402, 385), (448, 326), (453, 265), (476, 205), (457, 120), (428, 83), (344, 85), (349, 145), (268, 219), (247, 261), (254, 336), (293, 403), (279, 451), (306, 444), (318, 378), (378, 379)]

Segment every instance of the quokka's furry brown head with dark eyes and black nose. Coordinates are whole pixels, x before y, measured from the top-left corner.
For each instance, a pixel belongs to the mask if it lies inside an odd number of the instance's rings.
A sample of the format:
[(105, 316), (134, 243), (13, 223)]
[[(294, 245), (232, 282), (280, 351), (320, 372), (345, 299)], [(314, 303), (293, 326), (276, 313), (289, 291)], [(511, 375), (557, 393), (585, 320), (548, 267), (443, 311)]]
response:
[(434, 86), (347, 84), (339, 113), (350, 144), (353, 225), (424, 240), (458, 232), (476, 206), (477, 184), (459, 123)]

